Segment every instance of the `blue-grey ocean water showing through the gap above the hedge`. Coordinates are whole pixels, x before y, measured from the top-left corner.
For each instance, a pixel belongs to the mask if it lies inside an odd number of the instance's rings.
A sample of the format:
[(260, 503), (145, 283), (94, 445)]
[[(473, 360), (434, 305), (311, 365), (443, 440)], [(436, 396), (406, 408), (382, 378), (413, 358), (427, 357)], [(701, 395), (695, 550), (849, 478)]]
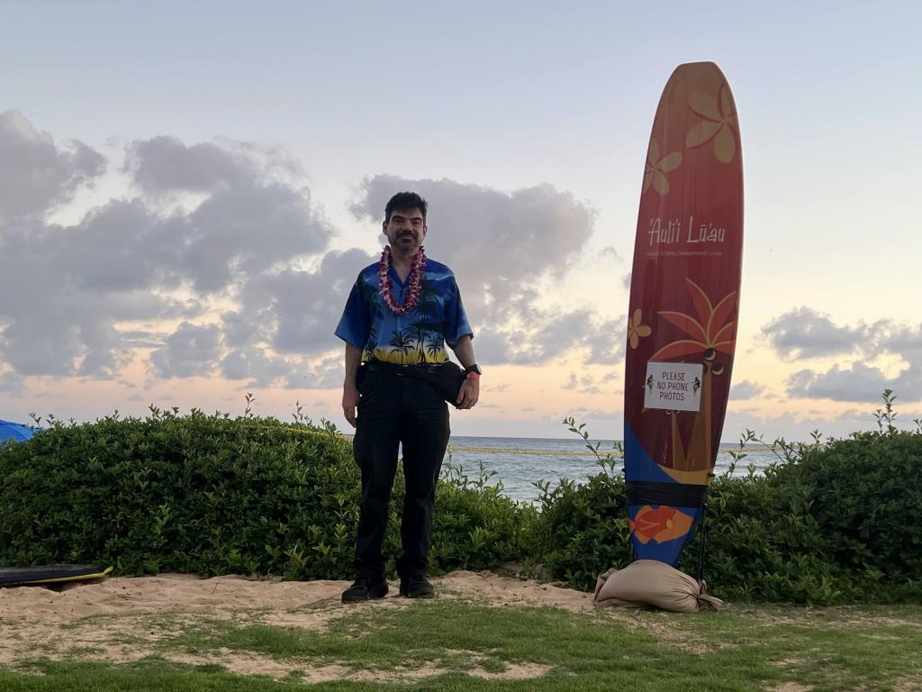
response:
[[(599, 454), (604, 456), (613, 451), (613, 445), (612, 440), (603, 440), (598, 447)], [(739, 443), (725, 443), (720, 449), (714, 471), (717, 475), (729, 471), (733, 462), (729, 450), (739, 451)], [(762, 445), (749, 446), (744, 451), (747, 457), (737, 464), (734, 477), (747, 475), (750, 463), (758, 473), (778, 460), (771, 449)], [(460, 467), (471, 480), (479, 478), (482, 463), (483, 471), (492, 473), (489, 483), (501, 482), (503, 494), (526, 502), (538, 499), (536, 481), (548, 481), (554, 488), (561, 478), (583, 482), (600, 471), (595, 455), (575, 435), (572, 439), (452, 435), (443, 470), (449, 463)], [(616, 468), (621, 469), (621, 463)]]

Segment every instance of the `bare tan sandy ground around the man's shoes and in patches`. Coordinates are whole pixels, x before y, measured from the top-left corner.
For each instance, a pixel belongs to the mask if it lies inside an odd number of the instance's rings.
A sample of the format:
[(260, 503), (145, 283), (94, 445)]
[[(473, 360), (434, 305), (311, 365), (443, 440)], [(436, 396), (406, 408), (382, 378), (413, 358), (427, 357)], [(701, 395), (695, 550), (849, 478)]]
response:
[[(432, 583), (441, 599), (497, 606), (550, 606), (574, 612), (594, 609), (591, 594), (503, 578), (490, 572), (453, 572), (432, 579)], [(34, 658), (137, 661), (153, 654), (160, 638), (175, 636), (203, 616), (316, 629), (349, 609), (402, 608), (412, 603), (396, 596), (395, 582), (382, 601), (343, 605), (339, 603), (339, 594), (348, 586), (346, 581), (160, 575), (102, 579), (67, 584), (55, 590), (0, 589), (0, 665), (21, 669)], [(534, 664), (510, 664), (502, 673), (488, 672), (479, 667), (477, 652), (468, 653), (472, 667), (467, 674), (475, 676), (528, 678), (547, 672), (547, 668)], [(412, 682), (443, 672), (435, 666), (398, 669), (386, 674), (338, 664), (305, 667), (304, 662), (280, 662), (251, 652), (230, 650), (166, 656), (171, 661), (218, 663), (234, 672), (274, 678), (299, 671), (302, 679), (310, 682), (342, 678)]]

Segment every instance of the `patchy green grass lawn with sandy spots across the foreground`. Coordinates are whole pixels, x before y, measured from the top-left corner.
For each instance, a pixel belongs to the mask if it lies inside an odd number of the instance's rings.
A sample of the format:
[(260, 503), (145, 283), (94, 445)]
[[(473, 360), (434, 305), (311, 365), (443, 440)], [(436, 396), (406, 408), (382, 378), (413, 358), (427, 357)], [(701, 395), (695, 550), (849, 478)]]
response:
[[(327, 605), (316, 628), (265, 612), (84, 618), (0, 665), (0, 690), (922, 691), (922, 606), (677, 615), (399, 601)], [(29, 636), (2, 617), (2, 638)]]

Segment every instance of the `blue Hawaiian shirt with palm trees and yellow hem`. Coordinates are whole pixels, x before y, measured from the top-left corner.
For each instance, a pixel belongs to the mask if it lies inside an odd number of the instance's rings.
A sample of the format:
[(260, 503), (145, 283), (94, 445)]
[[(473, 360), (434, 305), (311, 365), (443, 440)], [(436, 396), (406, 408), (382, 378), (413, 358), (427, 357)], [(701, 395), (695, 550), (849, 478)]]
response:
[[(393, 265), (388, 269), (397, 304), (409, 289)], [(467, 322), (461, 293), (450, 268), (426, 257), (420, 301), (406, 315), (395, 315), (379, 292), (378, 265), (361, 270), (352, 286), (337, 337), (362, 350), (362, 363), (384, 361), (402, 365), (445, 363), (447, 343), (452, 349), (463, 336), (474, 336)]]

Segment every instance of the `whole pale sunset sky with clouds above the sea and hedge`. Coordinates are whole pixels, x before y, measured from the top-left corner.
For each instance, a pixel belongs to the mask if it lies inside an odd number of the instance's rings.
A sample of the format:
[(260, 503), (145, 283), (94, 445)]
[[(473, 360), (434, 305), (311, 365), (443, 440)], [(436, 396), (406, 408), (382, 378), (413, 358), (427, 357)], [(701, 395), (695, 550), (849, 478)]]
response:
[(453, 433), (620, 438), (650, 127), (701, 60), (745, 174), (723, 438), (922, 419), (915, 3), (0, 5), (0, 419), (347, 428), (333, 330), (415, 189), (484, 370)]

